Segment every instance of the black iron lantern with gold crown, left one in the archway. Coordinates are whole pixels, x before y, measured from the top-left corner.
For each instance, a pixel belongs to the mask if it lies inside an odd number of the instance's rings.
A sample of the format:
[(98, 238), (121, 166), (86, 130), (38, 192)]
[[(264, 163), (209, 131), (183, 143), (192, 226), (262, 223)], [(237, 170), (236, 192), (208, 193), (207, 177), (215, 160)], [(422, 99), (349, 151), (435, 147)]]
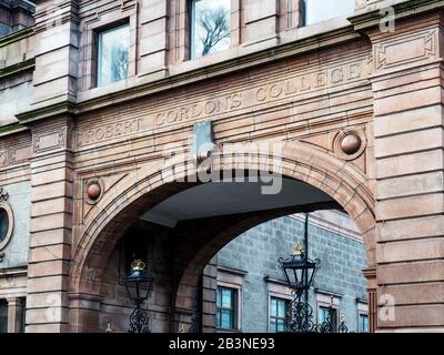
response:
[(145, 271), (145, 263), (135, 260), (131, 264), (131, 272), (123, 277), (129, 298), (134, 303), (134, 311), (130, 315), (129, 333), (150, 333), (150, 320), (142, 305), (148, 298), (154, 276)]

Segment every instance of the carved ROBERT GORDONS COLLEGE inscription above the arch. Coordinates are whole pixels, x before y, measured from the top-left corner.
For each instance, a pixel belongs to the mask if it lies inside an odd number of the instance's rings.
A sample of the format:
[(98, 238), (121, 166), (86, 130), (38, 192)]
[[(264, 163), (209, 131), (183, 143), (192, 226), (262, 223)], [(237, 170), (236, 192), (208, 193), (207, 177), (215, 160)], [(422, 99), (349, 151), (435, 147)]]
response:
[[(326, 93), (326, 90), (340, 88), (366, 79), (370, 74), (369, 57), (347, 63), (325, 65), (322, 70), (305, 70), (284, 78), (261, 82), (244, 90), (228, 94), (215, 94), (200, 100), (190, 100), (190, 103), (171, 106), (150, 114), (105, 125), (80, 128), (75, 136), (78, 148), (119, 139), (142, 131), (162, 129), (202, 119), (215, 118), (225, 113), (235, 113), (242, 110), (271, 105), (273, 102), (292, 102), (309, 97)], [(170, 106), (170, 102), (165, 105)]]

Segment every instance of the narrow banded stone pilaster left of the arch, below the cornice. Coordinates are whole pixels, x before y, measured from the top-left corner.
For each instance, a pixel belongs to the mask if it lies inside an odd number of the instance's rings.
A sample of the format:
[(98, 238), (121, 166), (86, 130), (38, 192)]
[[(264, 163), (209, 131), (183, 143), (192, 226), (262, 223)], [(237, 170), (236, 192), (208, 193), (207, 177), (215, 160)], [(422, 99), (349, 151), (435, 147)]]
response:
[(32, 128), (27, 332), (68, 332), (72, 229), (71, 122)]

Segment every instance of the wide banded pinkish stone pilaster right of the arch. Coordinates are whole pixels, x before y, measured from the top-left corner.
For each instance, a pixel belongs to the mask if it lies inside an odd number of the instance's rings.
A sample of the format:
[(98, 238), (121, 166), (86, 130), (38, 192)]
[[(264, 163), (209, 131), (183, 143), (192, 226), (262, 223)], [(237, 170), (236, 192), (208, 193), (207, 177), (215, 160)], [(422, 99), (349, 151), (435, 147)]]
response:
[(440, 14), (371, 31), (377, 329), (444, 329), (443, 33)]

